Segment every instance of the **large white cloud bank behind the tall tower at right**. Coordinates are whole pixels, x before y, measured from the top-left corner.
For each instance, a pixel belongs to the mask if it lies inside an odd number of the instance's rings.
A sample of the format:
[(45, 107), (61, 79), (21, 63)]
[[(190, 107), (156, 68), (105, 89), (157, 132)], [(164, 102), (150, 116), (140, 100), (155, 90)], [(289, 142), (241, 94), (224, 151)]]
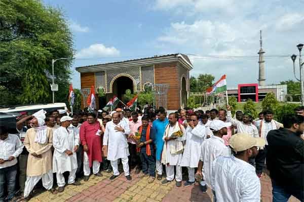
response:
[[(195, 54), (191, 75), (227, 74), (229, 86), (256, 83), (259, 30), (263, 32), (267, 84), (294, 79), (289, 55), (304, 43), (304, 2), (277, 0), (156, 0), (155, 8), (170, 12), (172, 21), (155, 40), (155, 48), (167, 53)], [(183, 14), (176, 15), (176, 10)], [(285, 57), (268, 57), (284, 55)], [(233, 56), (245, 57), (235, 58)]]

